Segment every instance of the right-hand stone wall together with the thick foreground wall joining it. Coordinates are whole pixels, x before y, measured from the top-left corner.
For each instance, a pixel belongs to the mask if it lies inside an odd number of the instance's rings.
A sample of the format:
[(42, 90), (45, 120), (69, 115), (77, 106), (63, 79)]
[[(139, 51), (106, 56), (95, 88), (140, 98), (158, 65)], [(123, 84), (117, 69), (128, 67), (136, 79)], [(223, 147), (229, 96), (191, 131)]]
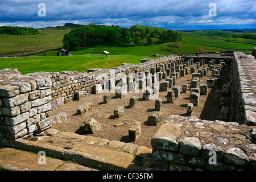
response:
[(206, 121), (177, 115), (171, 115), (164, 122), (151, 139), (156, 169), (256, 169), (255, 67), (253, 56), (234, 53), (229, 110), (231, 116), (235, 113), (236, 122), (229, 119), (227, 122)]

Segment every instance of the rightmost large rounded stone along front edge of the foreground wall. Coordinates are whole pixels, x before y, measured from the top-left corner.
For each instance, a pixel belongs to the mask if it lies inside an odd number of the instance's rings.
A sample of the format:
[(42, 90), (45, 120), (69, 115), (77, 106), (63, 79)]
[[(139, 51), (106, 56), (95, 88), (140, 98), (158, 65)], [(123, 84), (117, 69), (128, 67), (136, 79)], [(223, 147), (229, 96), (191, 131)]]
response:
[(249, 166), (249, 158), (241, 148), (232, 147), (226, 150), (224, 161), (237, 166)]

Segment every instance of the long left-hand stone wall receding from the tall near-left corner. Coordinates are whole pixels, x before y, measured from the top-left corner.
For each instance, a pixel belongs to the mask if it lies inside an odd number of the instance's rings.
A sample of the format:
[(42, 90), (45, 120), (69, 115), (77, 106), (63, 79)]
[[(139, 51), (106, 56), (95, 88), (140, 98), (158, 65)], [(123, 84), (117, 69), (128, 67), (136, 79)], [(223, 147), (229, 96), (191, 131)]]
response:
[(51, 110), (74, 100), (76, 92), (88, 95), (94, 85), (104, 87), (109, 78), (118, 81), (123, 76), (150, 71), (176, 59), (180, 56), (123, 64), (113, 69), (95, 69), (89, 73), (64, 71), (22, 75), (16, 69), (3, 69), (0, 71), (0, 139), (22, 138), (47, 129), (56, 118)]

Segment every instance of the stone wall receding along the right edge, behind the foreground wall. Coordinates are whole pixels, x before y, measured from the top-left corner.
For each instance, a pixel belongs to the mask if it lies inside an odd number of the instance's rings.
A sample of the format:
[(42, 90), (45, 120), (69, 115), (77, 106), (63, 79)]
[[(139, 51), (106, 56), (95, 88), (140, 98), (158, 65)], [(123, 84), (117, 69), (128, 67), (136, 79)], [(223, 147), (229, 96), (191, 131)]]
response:
[(235, 52), (232, 67), (232, 106), (236, 110), (236, 122), (256, 126), (256, 60), (251, 55)]

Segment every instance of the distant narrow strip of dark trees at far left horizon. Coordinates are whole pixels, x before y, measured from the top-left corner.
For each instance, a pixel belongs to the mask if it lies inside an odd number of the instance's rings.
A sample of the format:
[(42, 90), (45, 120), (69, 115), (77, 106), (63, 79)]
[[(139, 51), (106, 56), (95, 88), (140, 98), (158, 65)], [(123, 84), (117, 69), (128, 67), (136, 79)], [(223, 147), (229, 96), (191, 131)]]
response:
[(11, 34), (11, 35), (36, 35), (39, 34), (38, 30), (30, 27), (0, 27), (0, 34)]

